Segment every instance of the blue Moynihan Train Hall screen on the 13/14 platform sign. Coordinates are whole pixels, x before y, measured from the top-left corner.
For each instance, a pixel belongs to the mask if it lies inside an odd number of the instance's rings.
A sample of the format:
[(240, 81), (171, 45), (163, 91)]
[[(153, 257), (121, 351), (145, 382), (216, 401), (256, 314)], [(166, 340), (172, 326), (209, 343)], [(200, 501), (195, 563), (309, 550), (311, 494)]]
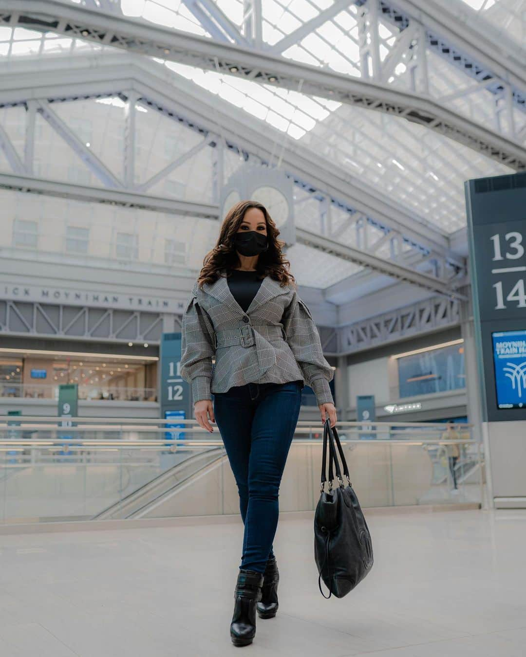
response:
[(500, 409), (526, 407), (526, 330), (491, 334), (497, 405)]

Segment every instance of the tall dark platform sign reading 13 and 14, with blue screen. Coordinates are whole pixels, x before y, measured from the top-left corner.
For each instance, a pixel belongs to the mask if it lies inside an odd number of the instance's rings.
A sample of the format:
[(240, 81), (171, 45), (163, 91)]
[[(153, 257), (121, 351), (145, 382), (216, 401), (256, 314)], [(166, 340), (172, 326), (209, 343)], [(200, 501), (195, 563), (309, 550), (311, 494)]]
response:
[(466, 206), (483, 415), (526, 419), (526, 174), (467, 181)]

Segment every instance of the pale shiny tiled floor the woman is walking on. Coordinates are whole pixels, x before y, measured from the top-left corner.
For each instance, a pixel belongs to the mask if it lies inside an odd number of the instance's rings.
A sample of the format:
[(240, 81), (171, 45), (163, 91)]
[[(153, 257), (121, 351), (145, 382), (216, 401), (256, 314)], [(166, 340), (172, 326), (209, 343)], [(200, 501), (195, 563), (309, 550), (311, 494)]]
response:
[[(2, 657), (525, 657), (526, 512), (371, 514), (375, 565), (323, 599), (312, 519), (281, 516), (279, 611), (231, 645), (241, 521), (0, 535)], [(325, 589), (324, 589), (325, 591)]]

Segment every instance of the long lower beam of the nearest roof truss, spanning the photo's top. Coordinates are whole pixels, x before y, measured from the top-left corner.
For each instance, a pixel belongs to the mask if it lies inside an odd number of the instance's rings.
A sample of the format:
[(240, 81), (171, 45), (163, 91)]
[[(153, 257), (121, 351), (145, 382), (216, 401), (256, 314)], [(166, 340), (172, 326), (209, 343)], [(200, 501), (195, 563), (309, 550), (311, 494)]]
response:
[(400, 91), (324, 68), (300, 64), (263, 51), (253, 51), (170, 30), (125, 16), (83, 9), (60, 0), (0, 0), (0, 24), (50, 30), (120, 49), (183, 62), (207, 70), (301, 90), (365, 109), (394, 114), (425, 125), (517, 171), (526, 169), (526, 149), (504, 134), (442, 106), (429, 97)]

